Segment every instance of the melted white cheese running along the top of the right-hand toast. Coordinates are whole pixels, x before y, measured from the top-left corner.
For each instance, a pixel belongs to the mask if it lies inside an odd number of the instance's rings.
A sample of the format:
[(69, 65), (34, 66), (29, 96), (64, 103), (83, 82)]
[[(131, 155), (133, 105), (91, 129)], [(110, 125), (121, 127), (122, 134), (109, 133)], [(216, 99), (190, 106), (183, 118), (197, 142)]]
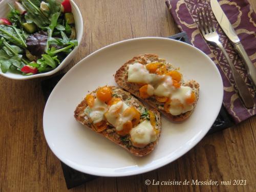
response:
[(185, 102), (186, 98), (191, 95), (192, 89), (185, 86), (175, 88), (171, 76), (150, 73), (145, 65), (137, 62), (129, 65), (127, 81), (147, 83), (147, 94), (150, 96), (168, 97), (171, 100), (169, 113), (172, 115), (180, 115), (193, 110), (193, 104)]

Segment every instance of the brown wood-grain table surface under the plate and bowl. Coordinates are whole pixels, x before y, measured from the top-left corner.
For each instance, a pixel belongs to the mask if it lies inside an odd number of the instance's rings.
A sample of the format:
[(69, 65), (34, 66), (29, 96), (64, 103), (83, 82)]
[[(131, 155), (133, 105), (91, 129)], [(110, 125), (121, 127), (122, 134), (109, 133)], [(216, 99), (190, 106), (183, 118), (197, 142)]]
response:
[[(164, 0), (76, 0), (84, 20), (79, 51), (83, 57), (124, 39), (166, 37), (179, 30)], [(250, 0), (254, 10), (256, 1)], [(45, 106), (40, 81), (0, 77), (0, 191), (66, 191), (60, 161), (43, 129)], [(256, 117), (205, 137), (173, 163), (149, 173), (98, 178), (70, 191), (255, 191)], [(145, 180), (246, 180), (246, 185), (145, 185)]]

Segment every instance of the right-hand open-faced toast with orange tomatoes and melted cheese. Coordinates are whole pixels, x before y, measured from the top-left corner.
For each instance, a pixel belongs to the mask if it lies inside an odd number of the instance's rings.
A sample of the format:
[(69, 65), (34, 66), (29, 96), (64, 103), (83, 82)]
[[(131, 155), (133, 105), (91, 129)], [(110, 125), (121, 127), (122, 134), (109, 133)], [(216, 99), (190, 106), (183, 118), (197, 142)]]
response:
[(184, 82), (179, 69), (155, 54), (139, 55), (124, 63), (115, 81), (173, 121), (189, 117), (199, 96), (198, 82)]

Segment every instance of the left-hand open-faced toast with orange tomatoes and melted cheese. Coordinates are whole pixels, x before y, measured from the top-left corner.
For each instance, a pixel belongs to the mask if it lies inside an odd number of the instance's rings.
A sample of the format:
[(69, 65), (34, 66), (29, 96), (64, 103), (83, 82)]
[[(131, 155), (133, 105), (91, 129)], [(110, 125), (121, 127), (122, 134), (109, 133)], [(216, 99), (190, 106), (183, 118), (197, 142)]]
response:
[(77, 121), (136, 156), (152, 152), (160, 137), (159, 112), (117, 87), (91, 92), (74, 113)]

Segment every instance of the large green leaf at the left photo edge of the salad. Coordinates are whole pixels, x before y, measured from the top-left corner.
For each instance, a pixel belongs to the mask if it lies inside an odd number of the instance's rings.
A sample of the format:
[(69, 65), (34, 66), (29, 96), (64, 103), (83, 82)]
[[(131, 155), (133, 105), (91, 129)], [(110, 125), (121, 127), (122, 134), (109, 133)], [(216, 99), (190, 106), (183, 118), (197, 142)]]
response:
[(26, 48), (27, 45), (25, 43), (25, 40), (23, 39), (19, 31), (20, 30), (18, 30), (14, 26), (0, 25), (0, 36), (4, 37), (8, 41), (19, 47)]

